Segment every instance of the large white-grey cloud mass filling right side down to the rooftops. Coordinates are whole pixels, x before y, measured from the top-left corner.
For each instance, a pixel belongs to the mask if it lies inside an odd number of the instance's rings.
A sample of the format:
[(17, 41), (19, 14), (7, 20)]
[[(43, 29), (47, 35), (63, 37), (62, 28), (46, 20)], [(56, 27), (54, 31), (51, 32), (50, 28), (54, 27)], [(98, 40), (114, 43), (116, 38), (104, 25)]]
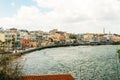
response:
[[(54, 9), (61, 29), (76, 32), (118, 32), (120, 2), (117, 0), (36, 0), (38, 6)], [(69, 27), (68, 27), (69, 26)], [(72, 26), (72, 27), (71, 27)], [(73, 29), (74, 27), (74, 29)], [(120, 28), (119, 28), (120, 29)]]

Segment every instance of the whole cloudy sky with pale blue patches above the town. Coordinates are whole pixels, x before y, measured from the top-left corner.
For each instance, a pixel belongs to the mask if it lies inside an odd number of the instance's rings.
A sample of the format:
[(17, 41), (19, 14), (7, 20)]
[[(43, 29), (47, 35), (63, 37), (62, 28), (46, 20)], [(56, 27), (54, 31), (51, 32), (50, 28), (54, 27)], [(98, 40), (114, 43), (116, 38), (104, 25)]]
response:
[(0, 0), (0, 27), (120, 34), (120, 0)]

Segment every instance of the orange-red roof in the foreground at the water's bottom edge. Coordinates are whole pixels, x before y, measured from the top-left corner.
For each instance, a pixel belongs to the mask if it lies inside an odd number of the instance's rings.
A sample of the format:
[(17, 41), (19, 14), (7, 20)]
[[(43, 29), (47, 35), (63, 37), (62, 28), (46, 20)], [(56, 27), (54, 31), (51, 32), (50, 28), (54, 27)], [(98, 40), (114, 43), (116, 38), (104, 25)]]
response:
[(22, 80), (74, 80), (74, 78), (70, 74), (28, 75), (28, 76), (23, 76)]

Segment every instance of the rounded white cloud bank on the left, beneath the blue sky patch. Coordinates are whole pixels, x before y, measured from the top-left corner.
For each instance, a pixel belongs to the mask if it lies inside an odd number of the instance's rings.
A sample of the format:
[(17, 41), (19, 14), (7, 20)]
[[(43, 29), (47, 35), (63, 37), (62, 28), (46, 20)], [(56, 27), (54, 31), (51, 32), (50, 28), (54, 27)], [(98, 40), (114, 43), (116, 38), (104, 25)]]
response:
[(17, 27), (29, 30), (50, 30), (51, 26), (54, 26), (53, 22), (55, 20), (50, 13), (44, 14), (35, 6), (22, 6), (14, 16), (1, 18), (0, 26), (4, 28)]

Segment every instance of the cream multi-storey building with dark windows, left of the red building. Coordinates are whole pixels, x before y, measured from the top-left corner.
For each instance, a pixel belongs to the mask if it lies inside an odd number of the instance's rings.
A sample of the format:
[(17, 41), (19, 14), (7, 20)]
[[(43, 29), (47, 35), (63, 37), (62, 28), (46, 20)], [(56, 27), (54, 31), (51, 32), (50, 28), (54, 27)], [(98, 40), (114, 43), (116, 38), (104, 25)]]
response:
[(7, 48), (9, 48), (10, 50), (20, 48), (20, 34), (16, 28), (5, 30), (4, 37)]

